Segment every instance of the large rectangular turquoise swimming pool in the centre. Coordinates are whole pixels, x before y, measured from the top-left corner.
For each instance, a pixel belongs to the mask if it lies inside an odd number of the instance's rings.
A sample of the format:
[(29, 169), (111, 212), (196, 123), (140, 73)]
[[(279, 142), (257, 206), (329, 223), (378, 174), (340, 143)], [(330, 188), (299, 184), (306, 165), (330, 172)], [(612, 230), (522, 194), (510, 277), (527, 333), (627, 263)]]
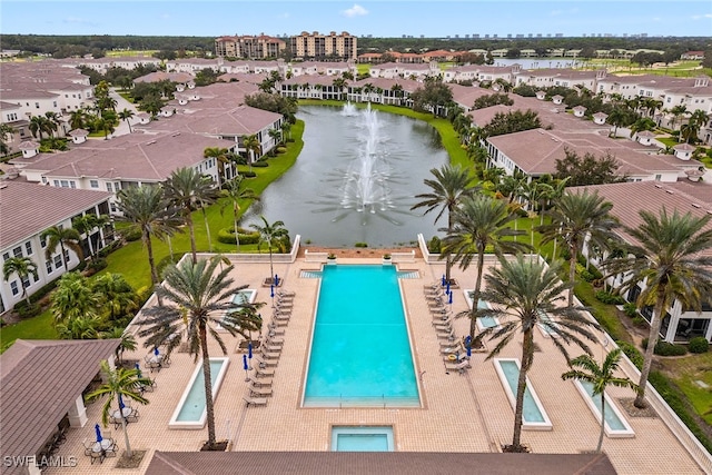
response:
[(419, 407), (395, 266), (324, 266), (305, 407)]

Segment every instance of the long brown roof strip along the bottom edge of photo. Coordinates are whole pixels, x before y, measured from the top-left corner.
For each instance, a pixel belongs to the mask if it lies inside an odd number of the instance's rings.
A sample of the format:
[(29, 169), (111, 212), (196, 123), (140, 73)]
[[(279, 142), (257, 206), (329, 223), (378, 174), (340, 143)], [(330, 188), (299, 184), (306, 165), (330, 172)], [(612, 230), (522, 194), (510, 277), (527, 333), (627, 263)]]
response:
[(613, 475), (605, 454), (424, 452), (156, 452), (147, 475), (387, 474)]

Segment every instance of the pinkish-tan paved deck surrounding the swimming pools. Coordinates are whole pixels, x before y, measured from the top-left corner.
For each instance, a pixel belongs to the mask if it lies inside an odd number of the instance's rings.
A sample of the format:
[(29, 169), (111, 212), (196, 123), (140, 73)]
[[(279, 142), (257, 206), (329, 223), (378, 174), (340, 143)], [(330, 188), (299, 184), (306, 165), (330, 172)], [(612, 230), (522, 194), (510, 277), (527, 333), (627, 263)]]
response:
[[(380, 258), (339, 257), (342, 264), (380, 264)], [(275, 368), (274, 396), (267, 406), (246, 407), (247, 383), (243, 370), (243, 354), (236, 353), (238, 339), (225, 336), (230, 366), (215, 403), (218, 439), (231, 439), (230, 449), (240, 451), (329, 451), (330, 428), (335, 425), (392, 425), (395, 449), (403, 452), (498, 452), (502, 444), (512, 439), (514, 414), (507, 400), (493, 362), (485, 354), (473, 354), (472, 369), (464, 375), (445, 370), (439, 354), (439, 340), (432, 326), (423, 286), (439, 279), (444, 264), (426, 264), (423, 259), (398, 264), (399, 270), (417, 270), (421, 278), (400, 279), (411, 330), (411, 344), (415, 355), (416, 373), (421, 375), (422, 408), (301, 408), (304, 375), (307, 352), (317, 300), (318, 279), (300, 278), (301, 270), (318, 269), (318, 263), (298, 258), (293, 264), (275, 264), (275, 271), (283, 276), (285, 290), (296, 293), (293, 316), (285, 329), (285, 344)], [(270, 315), (269, 287), (261, 286), (268, 277), (269, 264), (238, 263), (233, 270), (237, 285), (258, 289), (256, 301), (265, 301), (261, 309), (268, 320)], [(453, 268), (453, 277), (461, 287), (472, 288), (475, 268), (466, 273)], [(462, 288), (455, 289), (453, 309), (467, 308)], [(468, 329), (468, 320), (455, 324), (458, 336)], [(525, 431), (522, 442), (534, 453), (576, 454), (595, 448), (600, 425), (573, 382), (561, 380), (567, 370), (563, 356), (551, 339), (535, 330), (535, 342), (541, 352), (535, 354), (528, 377), (547, 412), (553, 429)], [(603, 340), (601, 335), (600, 342)], [(605, 348), (592, 344), (594, 356), (601, 358)], [(610, 345), (609, 345), (610, 349)], [(376, 348), (384, 357), (388, 348)], [(141, 360), (148, 353), (142, 346), (125, 359)], [(514, 339), (501, 353), (501, 357), (521, 355), (518, 339)], [(222, 356), (218, 345), (210, 340), (210, 355)], [(572, 356), (578, 355), (572, 349)], [(157, 388), (147, 393), (150, 404), (137, 406), (140, 417), (128, 425), (131, 447), (147, 451), (139, 469), (117, 469), (116, 459), (108, 458), (101, 465), (90, 465), (83, 456), (82, 441), (93, 437), (93, 425), (100, 420), (102, 402), (87, 407), (88, 423), (68, 432), (67, 443), (57, 455), (77, 457), (76, 468), (50, 468), (47, 473), (72, 474), (139, 474), (145, 473), (154, 451), (195, 452), (207, 438), (201, 431), (169, 429), (168, 422), (188, 384), (195, 368), (194, 358), (186, 353), (174, 353), (171, 365), (159, 373), (146, 373), (155, 377)], [(610, 388), (613, 399), (632, 397), (630, 389)], [(604, 438), (603, 448), (620, 474), (700, 474), (703, 471), (679, 443), (659, 417), (631, 417), (622, 412), (635, 432), (633, 438)], [(121, 452), (126, 448), (122, 429), (107, 427)]]

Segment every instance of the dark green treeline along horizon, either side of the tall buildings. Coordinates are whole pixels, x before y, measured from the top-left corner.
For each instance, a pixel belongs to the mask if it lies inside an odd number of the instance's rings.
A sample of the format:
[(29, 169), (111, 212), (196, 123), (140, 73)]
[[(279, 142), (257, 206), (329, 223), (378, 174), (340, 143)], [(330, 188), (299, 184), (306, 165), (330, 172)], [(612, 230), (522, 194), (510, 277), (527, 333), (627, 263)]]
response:
[[(216, 36), (217, 37), (217, 36)], [(2, 49), (20, 50), (27, 55), (51, 55), (67, 58), (91, 53), (95, 58), (106, 56), (107, 51), (160, 50), (181, 56), (189, 51), (205, 56), (215, 50), (216, 37), (139, 37), (139, 36), (50, 36), (50, 34), (0, 34)], [(607, 38), (358, 38), (358, 52), (432, 51), (500, 49), (534, 49), (545, 52), (548, 49), (654, 49), (671, 53), (704, 51), (712, 48), (711, 37), (607, 37)], [(542, 55), (543, 56), (543, 55)], [(288, 58), (289, 55), (287, 53)]]

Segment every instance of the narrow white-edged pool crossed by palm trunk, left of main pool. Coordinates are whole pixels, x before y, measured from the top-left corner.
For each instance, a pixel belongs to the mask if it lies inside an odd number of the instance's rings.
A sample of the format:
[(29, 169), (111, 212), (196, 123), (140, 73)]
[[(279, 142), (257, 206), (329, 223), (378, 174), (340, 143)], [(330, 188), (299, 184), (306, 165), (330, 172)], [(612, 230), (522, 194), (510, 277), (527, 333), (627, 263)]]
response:
[[(230, 359), (228, 357), (210, 358), (212, 402), (217, 398), (229, 363)], [(201, 429), (205, 427), (208, 414), (205, 404), (204, 382), (202, 360), (200, 360), (198, 362), (196, 369), (192, 372), (188, 386), (178, 402), (178, 406), (168, 423), (168, 428)]]

